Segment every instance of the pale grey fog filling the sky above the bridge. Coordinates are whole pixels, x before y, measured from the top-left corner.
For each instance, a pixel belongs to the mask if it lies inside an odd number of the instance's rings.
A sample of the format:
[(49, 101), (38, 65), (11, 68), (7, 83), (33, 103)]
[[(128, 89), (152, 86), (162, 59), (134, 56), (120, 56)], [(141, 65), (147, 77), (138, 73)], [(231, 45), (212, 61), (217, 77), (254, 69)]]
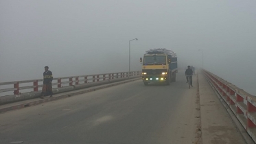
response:
[[(0, 82), (140, 71), (148, 49), (172, 49), (256, 95), (256, 1), (0, 0)], [(198, 51), (201, 49), (201, 51)]]

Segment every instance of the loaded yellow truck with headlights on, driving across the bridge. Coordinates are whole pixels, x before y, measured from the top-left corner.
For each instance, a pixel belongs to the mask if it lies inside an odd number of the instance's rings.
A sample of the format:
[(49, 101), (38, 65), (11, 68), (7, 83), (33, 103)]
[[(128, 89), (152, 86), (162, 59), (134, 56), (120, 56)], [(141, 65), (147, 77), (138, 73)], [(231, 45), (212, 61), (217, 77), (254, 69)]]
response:
[(146, 51), (142, 63), (142, 80), (145, 86), (151, 82), (162, 82), (170, 85), (176, 82), (178, 73), (177, 55), (174, 51), (165, 48)]

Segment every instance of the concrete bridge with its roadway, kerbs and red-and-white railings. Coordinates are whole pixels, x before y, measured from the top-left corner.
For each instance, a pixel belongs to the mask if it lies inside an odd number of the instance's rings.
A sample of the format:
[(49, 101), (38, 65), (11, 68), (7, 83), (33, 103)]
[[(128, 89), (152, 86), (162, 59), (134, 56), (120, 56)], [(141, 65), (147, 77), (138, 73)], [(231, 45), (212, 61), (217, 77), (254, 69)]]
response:
[(1, 143), (255, 143), (256, 98), (201, 70), (188, 88), (141, 82), (141, 71), (0, 83)]

